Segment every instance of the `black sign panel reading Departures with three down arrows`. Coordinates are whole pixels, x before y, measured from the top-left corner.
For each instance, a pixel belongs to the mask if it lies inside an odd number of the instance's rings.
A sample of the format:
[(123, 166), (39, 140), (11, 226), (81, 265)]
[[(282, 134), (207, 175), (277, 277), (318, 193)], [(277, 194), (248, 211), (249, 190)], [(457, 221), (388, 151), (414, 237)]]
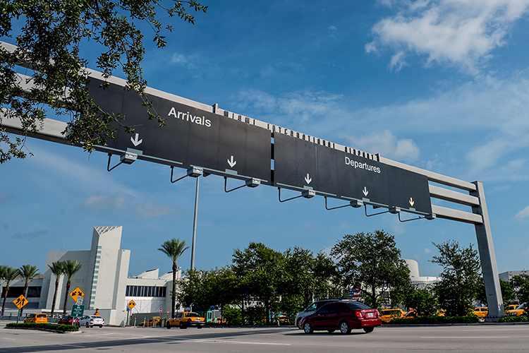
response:
[(274, 185), (432, 213), (424, 175), (281, 133), (274, 135)]

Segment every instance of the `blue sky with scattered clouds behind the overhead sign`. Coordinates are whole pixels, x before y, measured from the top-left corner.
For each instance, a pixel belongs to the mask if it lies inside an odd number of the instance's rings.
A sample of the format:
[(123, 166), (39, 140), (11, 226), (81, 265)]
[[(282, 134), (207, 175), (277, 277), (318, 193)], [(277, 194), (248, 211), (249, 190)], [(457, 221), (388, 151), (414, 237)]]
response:
[[(207, 5), (195, 25), (174, 20), (164, 49), (152, 47), (145, 28), (151, 87), (482, 181), (499, 272), (529, 268), (529, 1)], [(169, 167), (143, 161), (107, 172), (103, 153), (35, 139), (27, 146), (33, 157), (0, 166), (0, 263), (43, 271), (47, 251), (89, 249), (95, 226), (123, 226), (130, 275), (171, 270), (157, 251), (166, 239), (191, 244), (195, 179), (171, 184)], [(233, 249), (250, 241), (317, 253), (344, 234), (384, 229), (420, 275), (435, 276), (432, 242), (476, 241), (473, 225), (327, 211), (321, 197), (279, 203), (269, 186), (224, 193), (215, 176), (200, 179), (198, 210), (201, 269), (231, 263)], [(190, 250), (178, 265), (189, 267)]]

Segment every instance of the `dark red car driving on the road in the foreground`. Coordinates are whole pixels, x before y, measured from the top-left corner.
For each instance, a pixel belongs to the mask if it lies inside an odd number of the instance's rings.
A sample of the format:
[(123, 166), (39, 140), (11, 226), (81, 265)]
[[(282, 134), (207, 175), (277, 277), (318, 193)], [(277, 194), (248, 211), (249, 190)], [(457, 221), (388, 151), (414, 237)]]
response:
[(377, 309), (371, 309), (358, 301), (336, 301), (305, 316), (301, 327), (305, 333), (316, 330), (351, 333), (353, 328), (363, 328), (366, 333), (370, 333), (379, 325), (382, 325), (382, 318)]

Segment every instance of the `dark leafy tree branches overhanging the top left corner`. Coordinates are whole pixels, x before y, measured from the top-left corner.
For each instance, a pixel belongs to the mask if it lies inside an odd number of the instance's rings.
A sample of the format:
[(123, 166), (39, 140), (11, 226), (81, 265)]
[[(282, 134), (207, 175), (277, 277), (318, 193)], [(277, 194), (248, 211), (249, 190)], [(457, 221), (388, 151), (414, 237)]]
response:
[[(103, 112), (88, 96), (87, 73), (82, 69), (88, 62), (83, 57), (82, 44), (90, 41), (98, 48), (101, 54), (97, 67), (105, 78), (121, 66), (127, 78), (126, 89), (138, 92), (149, 119), (157, 119), (163, 125), (145, 95), (147, 82), (141, 68), (145, 49), (138, 25), (146, 23), (152, 28), (157, 47), (164, 47), (162, 27), (169, 32), (174, 28), (162, 16), (177, 16), (195, 23), (188, 11), (207, 11), (207, 6), (195, 0), (174, 1), (169, 7), (146, 0), (17, 0), (3, 1), (1, 8), (0, 36), (16, 35), (18, 46), (14, 53), (0, 49), (0, 104), (4, 119), (20, 119), (25, 136), (39, 129), (49, 110), (68, 114), (68, 140), (80, 143), (88, 151), (114, 138), (111, 123), (119, 124), (121, 117)], [(22, 20), (25, 23), (20, 26)], [(34, 88), (30, 91), (20, 88), (16, 65), (32, 69)], [(0, 163), (11, 157), (25, 157), (24, 143), (25, 137), (11, 138), (0, 122)]]

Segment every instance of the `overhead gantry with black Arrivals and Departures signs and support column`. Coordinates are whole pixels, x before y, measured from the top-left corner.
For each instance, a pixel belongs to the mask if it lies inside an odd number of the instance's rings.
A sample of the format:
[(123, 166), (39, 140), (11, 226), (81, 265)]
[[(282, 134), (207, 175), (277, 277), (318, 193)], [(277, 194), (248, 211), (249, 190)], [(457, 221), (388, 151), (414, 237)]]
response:
[[(11, 52), (16, 48), (1, 42), (0, 45)], [(152, 108), (166, 119), (166, 126), (160, 128), (157, 121), (148, 119), (140, 97), (135, 92), (124, 90), (125, 80), (103, 78), (97, 71), (85, 70), (91, 78), (88, 87), (90, 97), (105, 111), (123, 114), (123, 124), (135, 129), (130, 134), (116, 124), (116, 140), (109, 140), (104, 146), (95, 146), (96, 150), (109, 153), (109, 171), (116, 167), (110, 167), (111, 155), (119, 155), (119, 164), (130, 164), (139, 159), (169, 165), (173, 182), (183, 178), (173, 180), (174, 167), (181, 167), (187, 169), (184, 177), (199, 177), (202, 174), (224, 177), (226, 192), (243, 186), (265, 184), (279, 189), (281, 202), (319, 195), (324, 196), (327, 210), (364, 206), (365, 214), (370, 216), (367, 205), (372, 205), (373, 208), (386, 208), (384, 212), (398, 214), (399, 220), (401, 213), (405, 212), (428, 220), (439, 217), (473, 224), (490, 316), (504, 315), (485, 193), (479, 181), (470, 183), (446, 177), (388, 160), (378, 154), (228, 112), (219, 109), (217, 104), (210, 106), (146, 88)], [(27, 79), (28, 76), (20, 75), (20, 85), (24, 89), (30, 89), (23, 87), (29, 82)], [(105, 90), (100, 88), (104, 81), (109, 83), (109, 88)], [(20, 133), (20, 121), (16, 119), (2, 119), (0, 116), (0, 124), (8, 132)], [(66, 123), (45, 119), (42, 130), (31, 136), (68, 143), (63, 131), (66, 131)], [(227, 190), (228, 178), (243, 180), (245, 184)], [(281, 189), (300, 194), (281, 200)], [(329, 208), (327, 198), (347, 203)], [(431, 198), (470, 206), (472, 213), (432, 205)]]

